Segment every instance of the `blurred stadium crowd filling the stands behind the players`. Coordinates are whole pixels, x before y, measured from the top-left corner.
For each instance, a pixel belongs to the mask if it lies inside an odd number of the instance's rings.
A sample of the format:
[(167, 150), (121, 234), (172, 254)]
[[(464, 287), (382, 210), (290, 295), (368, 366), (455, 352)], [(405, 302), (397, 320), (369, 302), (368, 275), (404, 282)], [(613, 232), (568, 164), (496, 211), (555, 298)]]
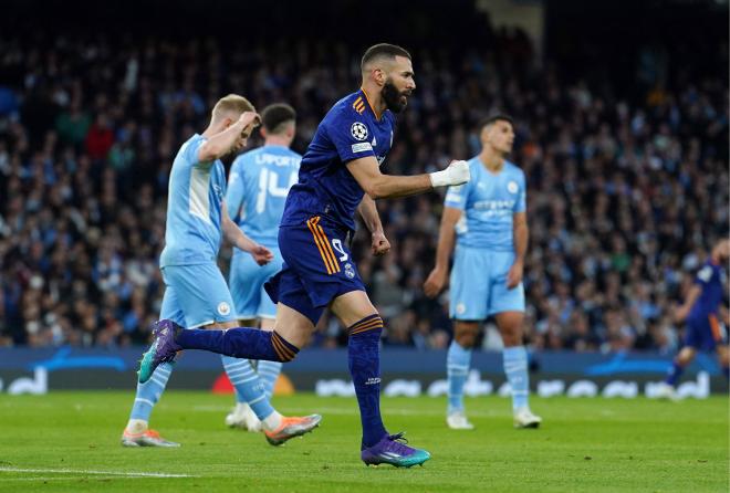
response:
[[(730, 219), (727, 74), (690, 78), (647, 51), (624, 94), (564, 77), (520, 31), (493, 40), (458, 56), (408, 46), (418, 87), (384, 170), (470, 158), (474, 124), (512, 115), (529, 187), (529, 344), (674, 350), (674, 304)], [(146, 342), (178, 146), (236, 92), (259, 108), (292, 104), (303, 153), (328, 107), (357, 88), (362, 49), (0, 34), (0, 345)], [(428, 300), (421, 289), (442, 196), (378, 208), (390, 254), (369, 256), (363, 230), (353, 252), (386, 318), (384, 344), (444, 348), (448, 293)], [(221, 252), (227, 269), (230, 248)], [(324, 317), (313, 344), (345, 339)], [(490, 326), (483, 346), (499, 344)]]

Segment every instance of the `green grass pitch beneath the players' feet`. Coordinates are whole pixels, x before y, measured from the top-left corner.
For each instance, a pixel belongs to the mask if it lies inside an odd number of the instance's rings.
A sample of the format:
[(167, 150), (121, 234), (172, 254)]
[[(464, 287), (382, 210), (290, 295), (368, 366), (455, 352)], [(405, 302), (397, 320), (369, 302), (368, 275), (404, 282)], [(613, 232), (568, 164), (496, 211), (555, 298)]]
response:
[(721, 397), (676, 403), (533, 398), (544, 418), (540, 430), (512, 429), (507, 399), (468, 399), (472, 432), (445, 428), (444, 399), (386, 398), (389, 429), (407, 430), (413, 444), (432, 454), (409, 470), (359, 462), (354, 398), (277, 398), (282, 412), (317, 411), (324, 420), (314, 433), (273, 448), (261, 434), (223, 427), (230, 397), (169, 391), (153, 424), (184, 445), (124, 449), (118, 439), (132, 399), (131, 391), (0, 395), (0, 491), (729, 491), (728, 400)]

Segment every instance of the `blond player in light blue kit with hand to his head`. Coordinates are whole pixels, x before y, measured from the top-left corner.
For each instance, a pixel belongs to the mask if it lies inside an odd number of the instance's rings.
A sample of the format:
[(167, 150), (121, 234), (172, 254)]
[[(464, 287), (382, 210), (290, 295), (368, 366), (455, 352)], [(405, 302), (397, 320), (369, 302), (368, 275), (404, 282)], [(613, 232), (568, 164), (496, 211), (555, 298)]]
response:
[[(228, 95), (213, 107), (208, 128), (182, 144), (175, 157), (167, 199), (165, 250), (159, 260), (166, 285), (161, 318), (205, 329), (238, 325), (226, 280), (216, 264), (221, 235), (249, 252), (259, 265), (272, 259), (269, 249), (246, 237), (229, 219), (222, 201), (226, 174), (220, 158), (238, 153), (259, 120), (248, 99)], [(243, 363), (250, 367), (248, 360)], [(129, 421), (122, 434), (123, 445), (179, 447), (147, 424), (171, 370), (170, 364), (160, 365), (137, 385)], [(259, 379), (257, 375), (252, 378)], [(317, 415), (282, 417), (268, 403), (261, 385), (252, 385), (247, 391), (247, 399), (262, 402), (255, 410), (267, 440), (274, 445), (311, 431), (321, 419)]]

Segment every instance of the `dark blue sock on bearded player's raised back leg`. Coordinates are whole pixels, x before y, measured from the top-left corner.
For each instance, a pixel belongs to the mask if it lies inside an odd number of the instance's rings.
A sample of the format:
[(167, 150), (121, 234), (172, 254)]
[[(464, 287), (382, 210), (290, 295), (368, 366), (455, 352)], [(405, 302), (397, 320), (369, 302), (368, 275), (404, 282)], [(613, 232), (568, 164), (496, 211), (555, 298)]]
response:
[(238, 327), (226, 331), (187, 328), (175, 336), (182, 349), (204, 349), (234, 358), (291, 361), (299, 348), (275, 332)]

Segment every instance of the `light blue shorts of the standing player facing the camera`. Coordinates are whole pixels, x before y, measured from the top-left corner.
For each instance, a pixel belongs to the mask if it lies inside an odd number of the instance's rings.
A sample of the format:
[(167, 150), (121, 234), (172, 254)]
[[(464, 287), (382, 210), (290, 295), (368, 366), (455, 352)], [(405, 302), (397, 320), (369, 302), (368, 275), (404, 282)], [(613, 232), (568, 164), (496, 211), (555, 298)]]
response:
[(502, 312), (524, 312), (524, 286), (507, 289), (513, 252), (457, 246), (450, 281), (449, 316), (483, 321)]

